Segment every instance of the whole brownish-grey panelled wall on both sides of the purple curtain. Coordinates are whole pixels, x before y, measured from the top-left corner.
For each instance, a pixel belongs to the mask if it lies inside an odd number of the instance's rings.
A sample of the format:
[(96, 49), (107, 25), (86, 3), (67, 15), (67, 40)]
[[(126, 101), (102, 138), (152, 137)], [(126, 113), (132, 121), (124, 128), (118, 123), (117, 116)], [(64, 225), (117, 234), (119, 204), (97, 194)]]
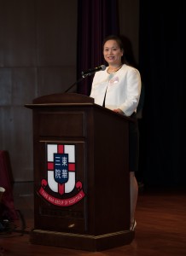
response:
[[(138, 1), (119, 0), (120, 32), (134, 49)], [(76, 81), (77, 12), (77, 0), (0, 0), (0, 149), (9, 151), (15, 181), (33, 172), (32, 111), (24, 105)]]

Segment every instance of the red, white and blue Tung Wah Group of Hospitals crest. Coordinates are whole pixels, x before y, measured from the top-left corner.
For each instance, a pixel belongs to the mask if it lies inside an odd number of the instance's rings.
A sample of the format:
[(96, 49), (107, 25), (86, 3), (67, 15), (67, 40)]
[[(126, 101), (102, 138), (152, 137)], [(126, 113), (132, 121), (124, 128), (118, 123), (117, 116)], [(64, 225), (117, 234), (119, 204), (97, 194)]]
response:
[[(60, 207), (72, 206), (84, 198), (82, 183), (76, 181), (75, 145), (47, 144), (46, 150), (48, 179), (42, 180), (38, 193), (54, 205)], [(46, 188), (52, 190), (58, 196), (49, 195)], [(73, 195), (73, 197), (66, 196), (66, 199), (61, 198), (62, 195), (70, 194), (73, 189), (77, 190), (76, 195)]]

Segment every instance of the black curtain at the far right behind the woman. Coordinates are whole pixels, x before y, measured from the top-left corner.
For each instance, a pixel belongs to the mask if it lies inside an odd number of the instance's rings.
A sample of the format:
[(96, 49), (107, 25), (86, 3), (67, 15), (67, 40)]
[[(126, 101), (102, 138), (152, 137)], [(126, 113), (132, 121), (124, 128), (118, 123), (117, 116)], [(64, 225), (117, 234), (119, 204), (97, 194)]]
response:
[(185, 24), (182, 1), (140, 1), (142, 168), (151, 185), (186, 184)]

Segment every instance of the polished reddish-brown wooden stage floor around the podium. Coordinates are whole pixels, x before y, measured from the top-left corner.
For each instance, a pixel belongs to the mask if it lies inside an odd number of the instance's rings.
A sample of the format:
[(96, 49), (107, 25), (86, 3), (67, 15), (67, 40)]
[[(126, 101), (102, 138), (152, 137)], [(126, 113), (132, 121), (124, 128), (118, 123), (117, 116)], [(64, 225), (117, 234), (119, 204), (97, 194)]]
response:
[(0, 232), (0, 256), (171, 256), (186, 255), (186, 189), (144, 188), (137, 201), (137, 228), (130, 245), (101, 252), (31, 244), (33, 183), (14, 184), (15, 208), (20, 218), (13, 231)]

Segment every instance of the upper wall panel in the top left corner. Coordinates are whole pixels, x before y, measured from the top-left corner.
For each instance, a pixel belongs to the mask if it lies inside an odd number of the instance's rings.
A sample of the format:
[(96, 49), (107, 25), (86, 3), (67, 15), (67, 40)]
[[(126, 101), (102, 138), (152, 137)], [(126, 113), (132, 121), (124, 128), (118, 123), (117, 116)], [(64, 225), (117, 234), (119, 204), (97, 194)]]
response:
[(35, 1), (0, 1), (0, 67), (36, 65)]

